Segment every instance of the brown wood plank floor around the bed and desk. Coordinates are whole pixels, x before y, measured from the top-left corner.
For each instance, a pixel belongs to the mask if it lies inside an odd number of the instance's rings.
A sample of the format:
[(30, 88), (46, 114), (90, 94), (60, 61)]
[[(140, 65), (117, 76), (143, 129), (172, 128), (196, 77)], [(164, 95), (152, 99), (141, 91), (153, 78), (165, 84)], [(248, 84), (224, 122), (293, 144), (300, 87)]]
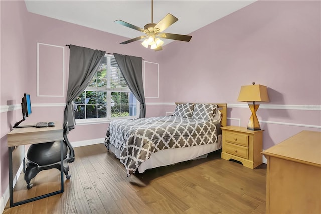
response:
[[(127, 178), (124, 166), (103, 144), (76, 147), (64, 193), (3, 213), (265, 213), (266, 165), (252, 170), (207, 158), (147, 170)], [(57, 169), (40, 172), (27, 190), (23, 175), (15, 202), (60, 189)]]

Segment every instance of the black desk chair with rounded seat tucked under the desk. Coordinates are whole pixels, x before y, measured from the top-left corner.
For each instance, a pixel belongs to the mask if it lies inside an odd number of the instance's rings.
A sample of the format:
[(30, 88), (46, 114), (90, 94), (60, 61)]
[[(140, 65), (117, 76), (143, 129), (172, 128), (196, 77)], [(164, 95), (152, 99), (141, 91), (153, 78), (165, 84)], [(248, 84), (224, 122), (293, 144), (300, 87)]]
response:
[[(67, 179), (70, 179), (68, 174), (69, 165), (75, 160), (75, 152), (70, 144), (67, 134), (69, 132), (68, 121), (64, 122), (64, 140), (62, 145), (63, 150), (63, 168)], [(61, 169), (60, 159), (60, 141), (32, 144), (27, 152), (27, 168), (25, 172), (25, 181), (27, 182), (27, 189), (31, 189), (33, 186), (30, 184), (30, 180), (33, 179), (40, 171), (46, 169), (56, 168)], [(67, 154), (69, 149), (69, 154)]]

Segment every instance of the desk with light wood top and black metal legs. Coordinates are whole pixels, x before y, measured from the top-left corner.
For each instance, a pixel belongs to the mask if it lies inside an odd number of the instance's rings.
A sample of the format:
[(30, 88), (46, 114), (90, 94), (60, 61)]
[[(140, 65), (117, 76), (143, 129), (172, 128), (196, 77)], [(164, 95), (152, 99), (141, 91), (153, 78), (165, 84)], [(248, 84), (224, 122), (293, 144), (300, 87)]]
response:
[[(63, 182), (63, 164), (61, 164), (61, 190), (48, 193), (45, 195), (37, 196), (34, 198), (30, 198), (27, 200), (15, 202), (13, 201), (13, 151), (16, 147), (18, 150), (19, 147), (28, 144), (38, 144), (38, 143), (46, 143), (52, 141), (61, 141), (61, 148), (63, 144), (63, 128), (59, 122), (55, 122), (54, 127), (43, 127), (43, 128), (35, 128), (35, 127), (24, 127), (24, 128), (14, 128), (7, 134), (8, 148), (9, 148), (9, 193), (10, 193), (10, 207), (18, 206), (21, 204), (25, 204), (28, 202), (32, 202), (35, 200), (39, 200), (45, 197), (49, 197), (52, 195), (56, 195), (64, 192), (64, 182)], [(20, 149), (21, 151), (21, 149)], [(23, 150), (25, 155), (25, 150)], [(63, 162), (63, 153), (61, 150), (60, 161)], [(21, 162), (20, 162), (21, 163)], [(19, 163), (19, 164), (20, 164)], [(23, 158), (24, 163), (24, 171), (25, 171), (25, 157)], [(17, 168), (17, 167), (15, 167)]]

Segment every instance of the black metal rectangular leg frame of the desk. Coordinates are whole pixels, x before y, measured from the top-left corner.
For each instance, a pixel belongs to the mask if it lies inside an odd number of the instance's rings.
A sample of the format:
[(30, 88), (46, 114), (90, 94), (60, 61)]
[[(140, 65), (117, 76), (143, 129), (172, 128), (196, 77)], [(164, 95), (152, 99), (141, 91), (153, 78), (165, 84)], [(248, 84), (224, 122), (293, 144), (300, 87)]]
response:
[[(40, 195), (37, 197), (33, 197), (33, 198), (29, 198), (26, 200), (22, 200), (19, 202), (14, 203), (14, 190), (13, 190), (13, 172), (12, 172), (12, 152), (14, 147), (9, 147), (9, 194), (10, 194), (10, 207), (14, 207), (14, 206), (18, 206), (18, 205), (22, 205), (25, 203), (29, 203), (35, 200), (40, 200), (49, 196), (53, 196), (56, 194), (60, 194), (64, 192), (64, 155), (63, 155), (63, 141), (60, 141), (60, 171), (61, 171), (61, 190), (60, 191), (55, 191), (55, 192), (51, 192), (48, 194), (44, 194), (44, 195)], [(24, 162), (25, 162), (25, 158), (24, 158)], [(25, 166), (24, 166), (25, 168)]]

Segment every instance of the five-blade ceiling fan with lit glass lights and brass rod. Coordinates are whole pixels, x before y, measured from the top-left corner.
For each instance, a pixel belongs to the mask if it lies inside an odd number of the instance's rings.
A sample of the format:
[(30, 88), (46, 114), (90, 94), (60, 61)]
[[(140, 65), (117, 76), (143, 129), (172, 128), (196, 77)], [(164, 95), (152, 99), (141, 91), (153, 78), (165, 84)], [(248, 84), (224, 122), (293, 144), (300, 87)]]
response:
[(165, 29), (167, 29), (170, 25), (178, 21), (178, 18), (176, 18), (172, 14), (167, 14), (157, 24), (153, 22), (153, 5), (154, 5), (153, 2), (154, 1), (151, 0), (151, 23), (146, 24), (144, 28), (137, 27), (135, 25), (132, 25), (128, 22), (124, 22), (122, 20), (115, 21), (116, 23), (119, 23), (123, 26), (132, 28), (134, 30), (137, 30), (146, 34), (143, 36), (139, 36), (139, 37), (124, 41), (120, 44), (128, 44), (130, 42), (134, 42), (145, 38), (145, 40), (141, 43), (144, 47), (148, 48), (150, 46), (150, 49), (159, 51), (159, 50), (162, 50), (162, 45), (164, 43), (160, 38), (189, 42), (192, 36), (163, 33)]

